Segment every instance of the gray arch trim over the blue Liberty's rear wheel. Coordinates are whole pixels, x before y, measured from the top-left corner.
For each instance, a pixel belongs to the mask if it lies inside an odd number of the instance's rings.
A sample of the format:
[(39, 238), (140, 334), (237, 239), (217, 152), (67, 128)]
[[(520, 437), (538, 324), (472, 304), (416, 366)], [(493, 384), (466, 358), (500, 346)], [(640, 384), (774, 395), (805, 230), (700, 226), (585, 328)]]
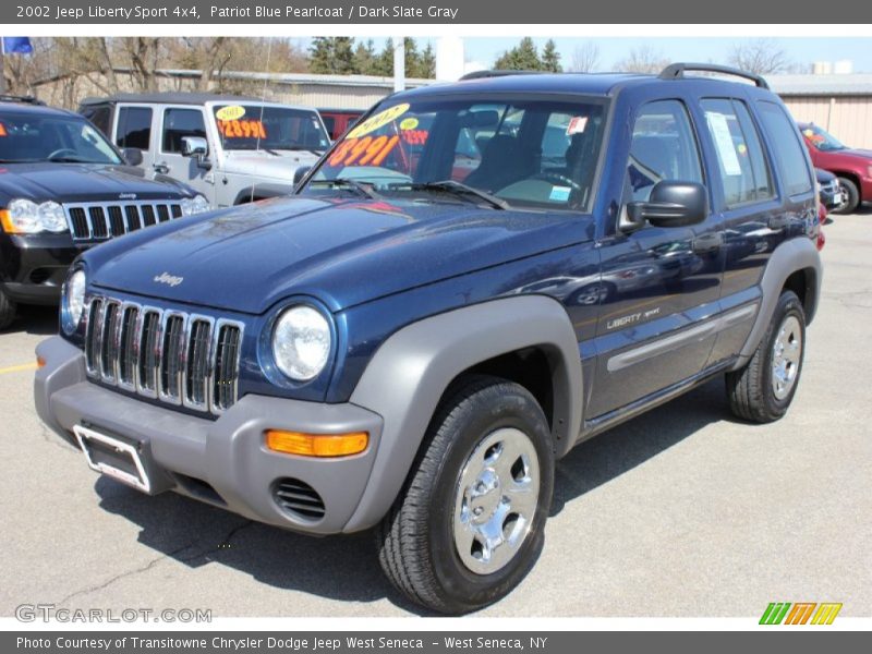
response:
[[(754, 354), (754, 350), (760, 344), (763, 334), (766, 331), (775, 306), (778, 304), (780, 290), (784, 288), (788, 277), (797, 270), (812, 270), (814, 279), (807, 281), (807, 302), (811, 307), (807, 312), (806, 320), (811, 323), (814, 312), (818, 308), (818, 301), (821, 296), (821, 279), (823, 277), (823, 265), (821, 255), (811, 239), (796, 238), (785, 241), (772, 253), (763, 277), (760, 280), (761, 305), (751, 334), (744, 342), (739, 353), (739, 359), (732, 370), (739, 370)], [(810, 295), (809, 295), (810, 294)]]

